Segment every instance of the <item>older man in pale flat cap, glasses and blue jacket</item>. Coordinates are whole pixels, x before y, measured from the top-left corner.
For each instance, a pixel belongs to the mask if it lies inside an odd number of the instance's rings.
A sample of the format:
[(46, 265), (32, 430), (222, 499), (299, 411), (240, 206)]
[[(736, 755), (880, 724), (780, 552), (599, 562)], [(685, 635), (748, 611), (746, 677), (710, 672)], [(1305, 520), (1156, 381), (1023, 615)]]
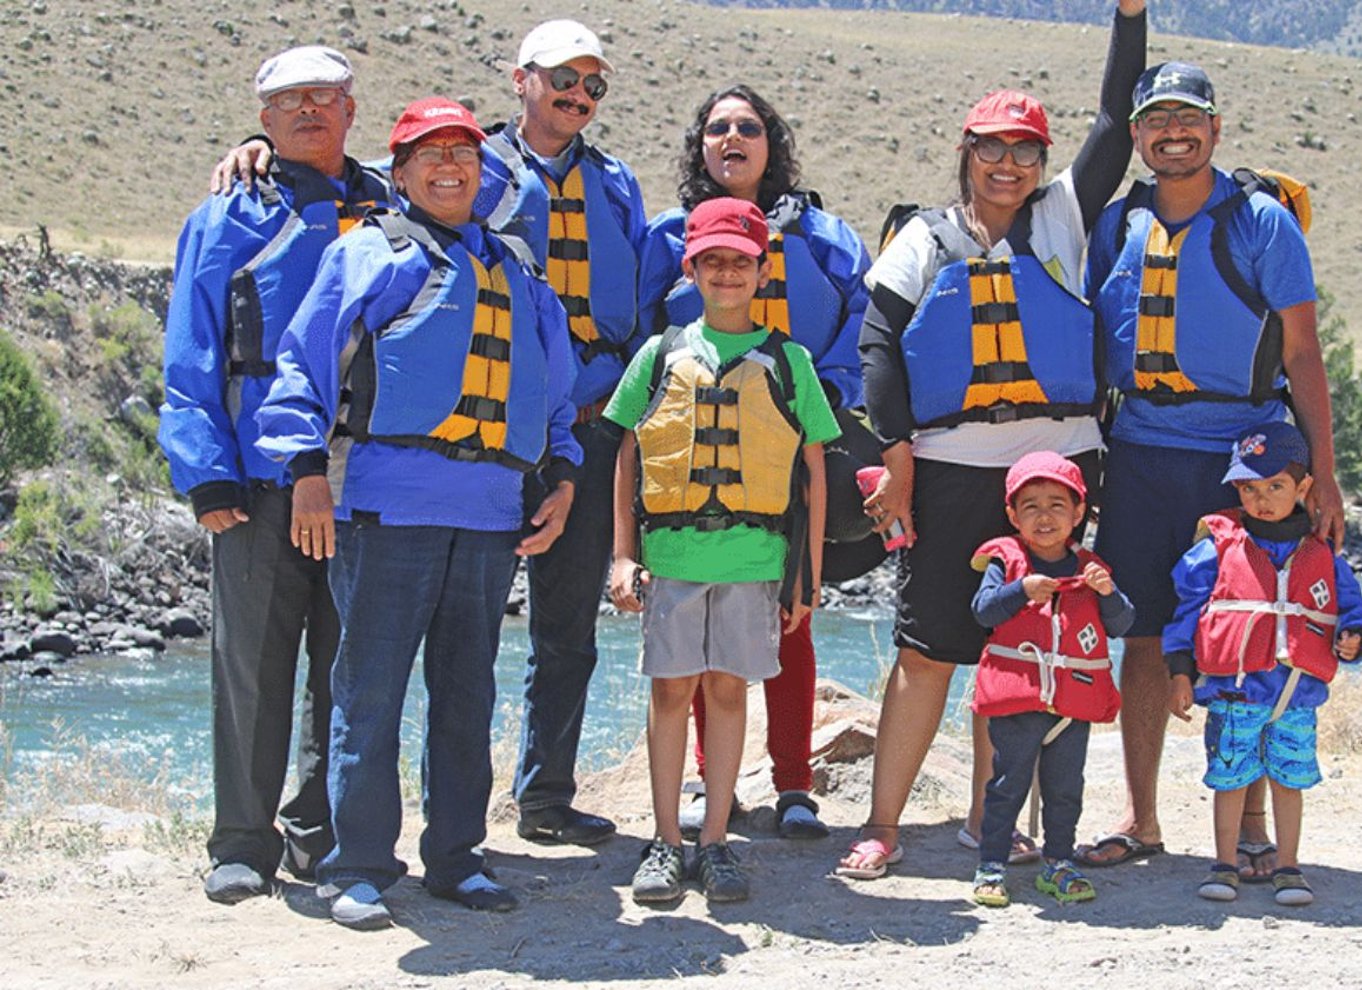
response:
[[(326, 783), (338, 621), (324, 554), (291, 543), (291, 481), (256, 451), (255, 413), (323, 249), (390, 200), (383, 178), (345, 154), (353, 80), (330, 48), (267, 60), (256, 94), (278, 159), (255, 188), (195, 210), (176, 255), (159, 440), (176, 488), (212, 534), (215, 821), (203, 889), (222, 904), (268, 893), (281, 862), (311, 877), (334, 844)], [(304, 636), (298, 791), (281, 808)]]

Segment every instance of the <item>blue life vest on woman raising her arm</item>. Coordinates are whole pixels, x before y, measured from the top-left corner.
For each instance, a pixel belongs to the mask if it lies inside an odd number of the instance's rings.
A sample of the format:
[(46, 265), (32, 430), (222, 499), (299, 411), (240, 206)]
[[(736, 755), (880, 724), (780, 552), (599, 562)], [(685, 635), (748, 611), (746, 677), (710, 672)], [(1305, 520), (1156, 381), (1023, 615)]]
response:
[[(949, 223), (936, 210), (918, 217)], [(903, 331), (918, 429), (1096, 413), (1092, 309), (1026, 246), (1028, 217), (1019, 225), (1012, 257), (949, 257)]]

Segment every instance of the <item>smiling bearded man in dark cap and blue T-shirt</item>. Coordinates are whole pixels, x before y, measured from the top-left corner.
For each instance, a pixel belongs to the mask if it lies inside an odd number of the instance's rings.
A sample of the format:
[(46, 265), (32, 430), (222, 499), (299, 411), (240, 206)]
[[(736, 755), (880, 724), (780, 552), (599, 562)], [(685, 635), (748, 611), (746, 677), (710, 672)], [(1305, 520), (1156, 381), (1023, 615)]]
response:
[[(1145, 69), (1130, 133), (1154, 174), (1107, 207), (1087, 272), (1106, 325), (1106, 377), (1124, 394), (1096, 552), (1137, 616), (1121, 667), (1128, 806), (1111, 833), (1080, 850), (1087, 866), (1163, 850), (1158, 771), (1169, 674), (1159, 635), (1177, 603), (1169, 573), (1197, 519), (1235, 502), (1222, 483), (1231, 444), (1256, 425), (1284, 421), (1287, 392), (1314, 464), (1314, 531), (1343, 546), (1314, 276), (1299, 225), (1273, 196), (1211, 163), (1220, 113), (1201, 68)], [(1155, 504), (1163, 511), (1151, 513)], [(1249, 797), (1246, 837), (1265, 850), (1261, 809), (1260, 790)], [(1271, 870), (1254, 863), (1250, 873)]]

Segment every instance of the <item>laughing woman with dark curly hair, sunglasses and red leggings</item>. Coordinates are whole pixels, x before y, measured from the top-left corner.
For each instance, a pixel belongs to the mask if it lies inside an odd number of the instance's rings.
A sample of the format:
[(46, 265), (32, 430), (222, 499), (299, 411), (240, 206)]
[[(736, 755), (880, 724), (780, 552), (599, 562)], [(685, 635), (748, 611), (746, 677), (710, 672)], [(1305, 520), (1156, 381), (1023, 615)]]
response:
[[(870, 256), (850, 226), (823, 211), (817, 193), (798, 188), (799, 163), (790, 125), (749, 86), (725, 87), (696, 110), (678, 163), (681, 206), (654, 218), (644, 238), (639, 274), (642, 325), (659, 334), (703, 312), (700, 294), (681, 272), (689, 211), (719, 196), (756, 203), (770, 227), (771, 279), (753, 300), (753, 321), (789, 334), (812, 353), (835, 410), (859, 406), (857, 334), (866, 306), (862, 278)], [(809, 797), (813, 681), (813, 639), (805, 618), (782, 633), (780, 674), (764, 682), (767, 749), (780, 794), (780, 835), (787, 837), (819, 839), (828, 833)], [(696, 763), (703, 778), (704, 701), (699, 693), (695, 714)], [(703, 820), (700, 795), (684, 809), (682, 828), (693, 835)]]

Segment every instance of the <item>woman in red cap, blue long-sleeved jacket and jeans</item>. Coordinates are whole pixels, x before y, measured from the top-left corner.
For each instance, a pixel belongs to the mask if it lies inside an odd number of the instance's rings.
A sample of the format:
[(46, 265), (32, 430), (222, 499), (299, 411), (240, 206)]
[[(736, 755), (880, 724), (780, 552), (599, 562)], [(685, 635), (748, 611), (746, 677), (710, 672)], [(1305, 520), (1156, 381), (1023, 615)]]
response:
[[(482, 139), (449, 99), (402, 112), (388, 143), (402, 211), (370, 212), (327, 246), (257, 415), (259, 447), (293, 475), (294, 546), (331, 558), (336, 844), (317, 882), (355, 929), (391, 923), (383, 891), (406, 872), (398, 729), (422, 643), (425, 889), (479, 910), (516, 903), (479, 850), (492, 667), (516, 560), (563, 531), (582, 448), (563, 306), (473, 222)], [(550, 494), (526, 526), (533, 470)]]

